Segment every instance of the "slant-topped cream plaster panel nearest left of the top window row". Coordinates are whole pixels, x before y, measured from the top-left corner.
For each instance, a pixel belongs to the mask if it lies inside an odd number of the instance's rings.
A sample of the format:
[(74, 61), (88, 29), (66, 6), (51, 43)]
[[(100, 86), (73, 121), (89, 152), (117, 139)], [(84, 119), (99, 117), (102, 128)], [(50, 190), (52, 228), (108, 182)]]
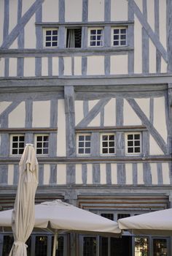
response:
[(35, 15), (25, 26), (25, 48), (36, 48)]

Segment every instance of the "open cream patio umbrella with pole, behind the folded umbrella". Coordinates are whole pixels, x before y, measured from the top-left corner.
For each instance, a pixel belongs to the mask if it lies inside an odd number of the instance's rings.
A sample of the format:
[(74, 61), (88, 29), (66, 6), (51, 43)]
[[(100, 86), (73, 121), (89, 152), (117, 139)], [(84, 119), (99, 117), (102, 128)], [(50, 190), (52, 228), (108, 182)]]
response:
[[(12, 210), (0, 211), (0, 227), (10, 227)], [(90, 211), (64, 203), (61, 200), (44, 202), (35, 206), (34, 227), (51, 230), (55, 234), (53, 254), (55, 255), (57, 235), (60, 232), (120, 236), (117, 222)]]

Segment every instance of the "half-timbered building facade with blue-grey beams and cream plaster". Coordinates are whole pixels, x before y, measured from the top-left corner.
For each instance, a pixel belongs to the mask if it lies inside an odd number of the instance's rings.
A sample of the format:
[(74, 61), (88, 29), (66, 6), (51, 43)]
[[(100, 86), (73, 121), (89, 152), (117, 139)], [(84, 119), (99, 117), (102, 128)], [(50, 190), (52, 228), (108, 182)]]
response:
[[(36, 203), (117, 219), (171, 207), (171, 0), (0, 0), (0, 208), (33, 143)], [(12, 233), (0, 233), (0, 255)], [(170, 256), (171, 238), (65, 233), (60, 256)], [(33, 233), (28, 254), (51, 255)]]

